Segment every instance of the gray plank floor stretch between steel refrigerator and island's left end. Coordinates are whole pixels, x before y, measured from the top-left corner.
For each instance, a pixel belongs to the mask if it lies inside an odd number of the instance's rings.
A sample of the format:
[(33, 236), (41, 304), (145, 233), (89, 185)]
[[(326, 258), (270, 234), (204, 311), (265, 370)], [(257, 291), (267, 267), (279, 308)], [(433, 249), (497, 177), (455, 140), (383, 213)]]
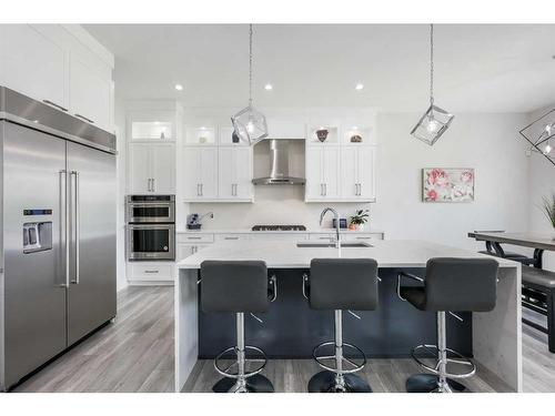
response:
[(114, 324), (14, 392), (173, 392), (173, 287), (128, 287)]

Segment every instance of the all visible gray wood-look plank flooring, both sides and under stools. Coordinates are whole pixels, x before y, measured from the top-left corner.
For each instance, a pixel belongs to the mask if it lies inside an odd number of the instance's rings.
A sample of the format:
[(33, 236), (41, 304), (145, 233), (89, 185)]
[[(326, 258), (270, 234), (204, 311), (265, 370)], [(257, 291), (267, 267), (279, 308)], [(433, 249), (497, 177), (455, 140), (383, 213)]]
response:
[[(523, 333), (524, 390), (555, 392), (555, 354), (546, 336)], [(305, 392), (319, 368), (310, 359), (270, 361), (264, 374), (276, 392)], [(370, 359), (362, 376), (374, 392), (404, 392), (418, 368), (411, 359)], [(196, 365), (186, 392), (210, 392), (219, 379), (211, 361)], [(474, 392), (506, 392), (483, 369), (465, 381)], [(118, 318), (58, 358), (16, 392), (172, 392), (173, 288), (129, 287), (118, 295)]]

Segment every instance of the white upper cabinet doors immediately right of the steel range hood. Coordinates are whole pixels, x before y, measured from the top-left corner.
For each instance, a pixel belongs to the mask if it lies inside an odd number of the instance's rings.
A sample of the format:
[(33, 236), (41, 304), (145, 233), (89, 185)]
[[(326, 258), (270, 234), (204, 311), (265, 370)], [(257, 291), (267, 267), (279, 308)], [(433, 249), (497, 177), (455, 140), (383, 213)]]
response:
[(306, 148), (306, 201), (337, 200), (340, 195), (340, 148)]

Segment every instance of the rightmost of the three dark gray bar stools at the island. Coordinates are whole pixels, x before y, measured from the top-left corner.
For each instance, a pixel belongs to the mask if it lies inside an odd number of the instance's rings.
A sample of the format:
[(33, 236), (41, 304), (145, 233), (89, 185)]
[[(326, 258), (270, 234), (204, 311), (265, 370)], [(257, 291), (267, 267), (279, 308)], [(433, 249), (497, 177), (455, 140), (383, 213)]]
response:
[[(476, 373), (472, 361), (447, 348), (445, 313), (461, 319), (450, 311), (490, 312), (495, 307), (498, 263), (491, 258), (431, 258), (425, 280), (408, 273), (397, 277), (397, 295), (420, 311), (436, 312), (437, 345), (418, 345), (412, 357), (432, 374), (417, 374), (406, 381), (408, 393), (453, 393), (466, 389), (454, 378), (467, 378)], [(403, 277), (424, 283), (424, 286), (402, 286)], [(462, 319), (461, 319), (462, 321)], [(437, 357), (435, 365), (426, 364), (418, 353), (427, 351)], [(447, 356), (450, 354), (451, 356)], [(454, 356), (454, 357), (453, 357)], [(462, 373), (450, 373), (447, 364), (470, 367)]]

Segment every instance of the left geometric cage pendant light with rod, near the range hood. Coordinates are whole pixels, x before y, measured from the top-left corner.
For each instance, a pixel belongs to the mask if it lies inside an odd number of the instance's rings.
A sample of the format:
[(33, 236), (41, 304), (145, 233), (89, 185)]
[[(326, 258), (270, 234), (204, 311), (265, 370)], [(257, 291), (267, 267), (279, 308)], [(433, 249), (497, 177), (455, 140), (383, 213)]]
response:
[(268, 138), (266, 118), (252, 105), (252, 24), (249, 24), (249, 105), (231, 118), (239, 139), (254, 145)]

